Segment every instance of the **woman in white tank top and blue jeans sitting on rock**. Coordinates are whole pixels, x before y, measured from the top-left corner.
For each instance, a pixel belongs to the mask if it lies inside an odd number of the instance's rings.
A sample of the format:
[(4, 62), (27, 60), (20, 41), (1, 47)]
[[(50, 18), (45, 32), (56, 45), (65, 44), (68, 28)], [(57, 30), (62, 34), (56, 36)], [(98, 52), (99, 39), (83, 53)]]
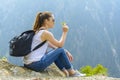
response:
[[(54, 27), (54, 21), (54, 16), (50, 12), (37, 14), (33, 27), (35, 36), (32, 41), (32, 49), (45, 40), (47, 42), (24, 57), (24, 66), (34, 71), (44, 71), (54, 62), (66, 76), (85, 76), (73, 69), (70, 63), (73, 60), (72, 55), (62, 48), (66, 40), (68, 26), (66, 24), (63, 25), (63, 33), (60, 40), (55, 39), (53, 34), (48, 31), (48, 29)], [(53, 48), (53, 50), (47, 52), (48, 47)]]

